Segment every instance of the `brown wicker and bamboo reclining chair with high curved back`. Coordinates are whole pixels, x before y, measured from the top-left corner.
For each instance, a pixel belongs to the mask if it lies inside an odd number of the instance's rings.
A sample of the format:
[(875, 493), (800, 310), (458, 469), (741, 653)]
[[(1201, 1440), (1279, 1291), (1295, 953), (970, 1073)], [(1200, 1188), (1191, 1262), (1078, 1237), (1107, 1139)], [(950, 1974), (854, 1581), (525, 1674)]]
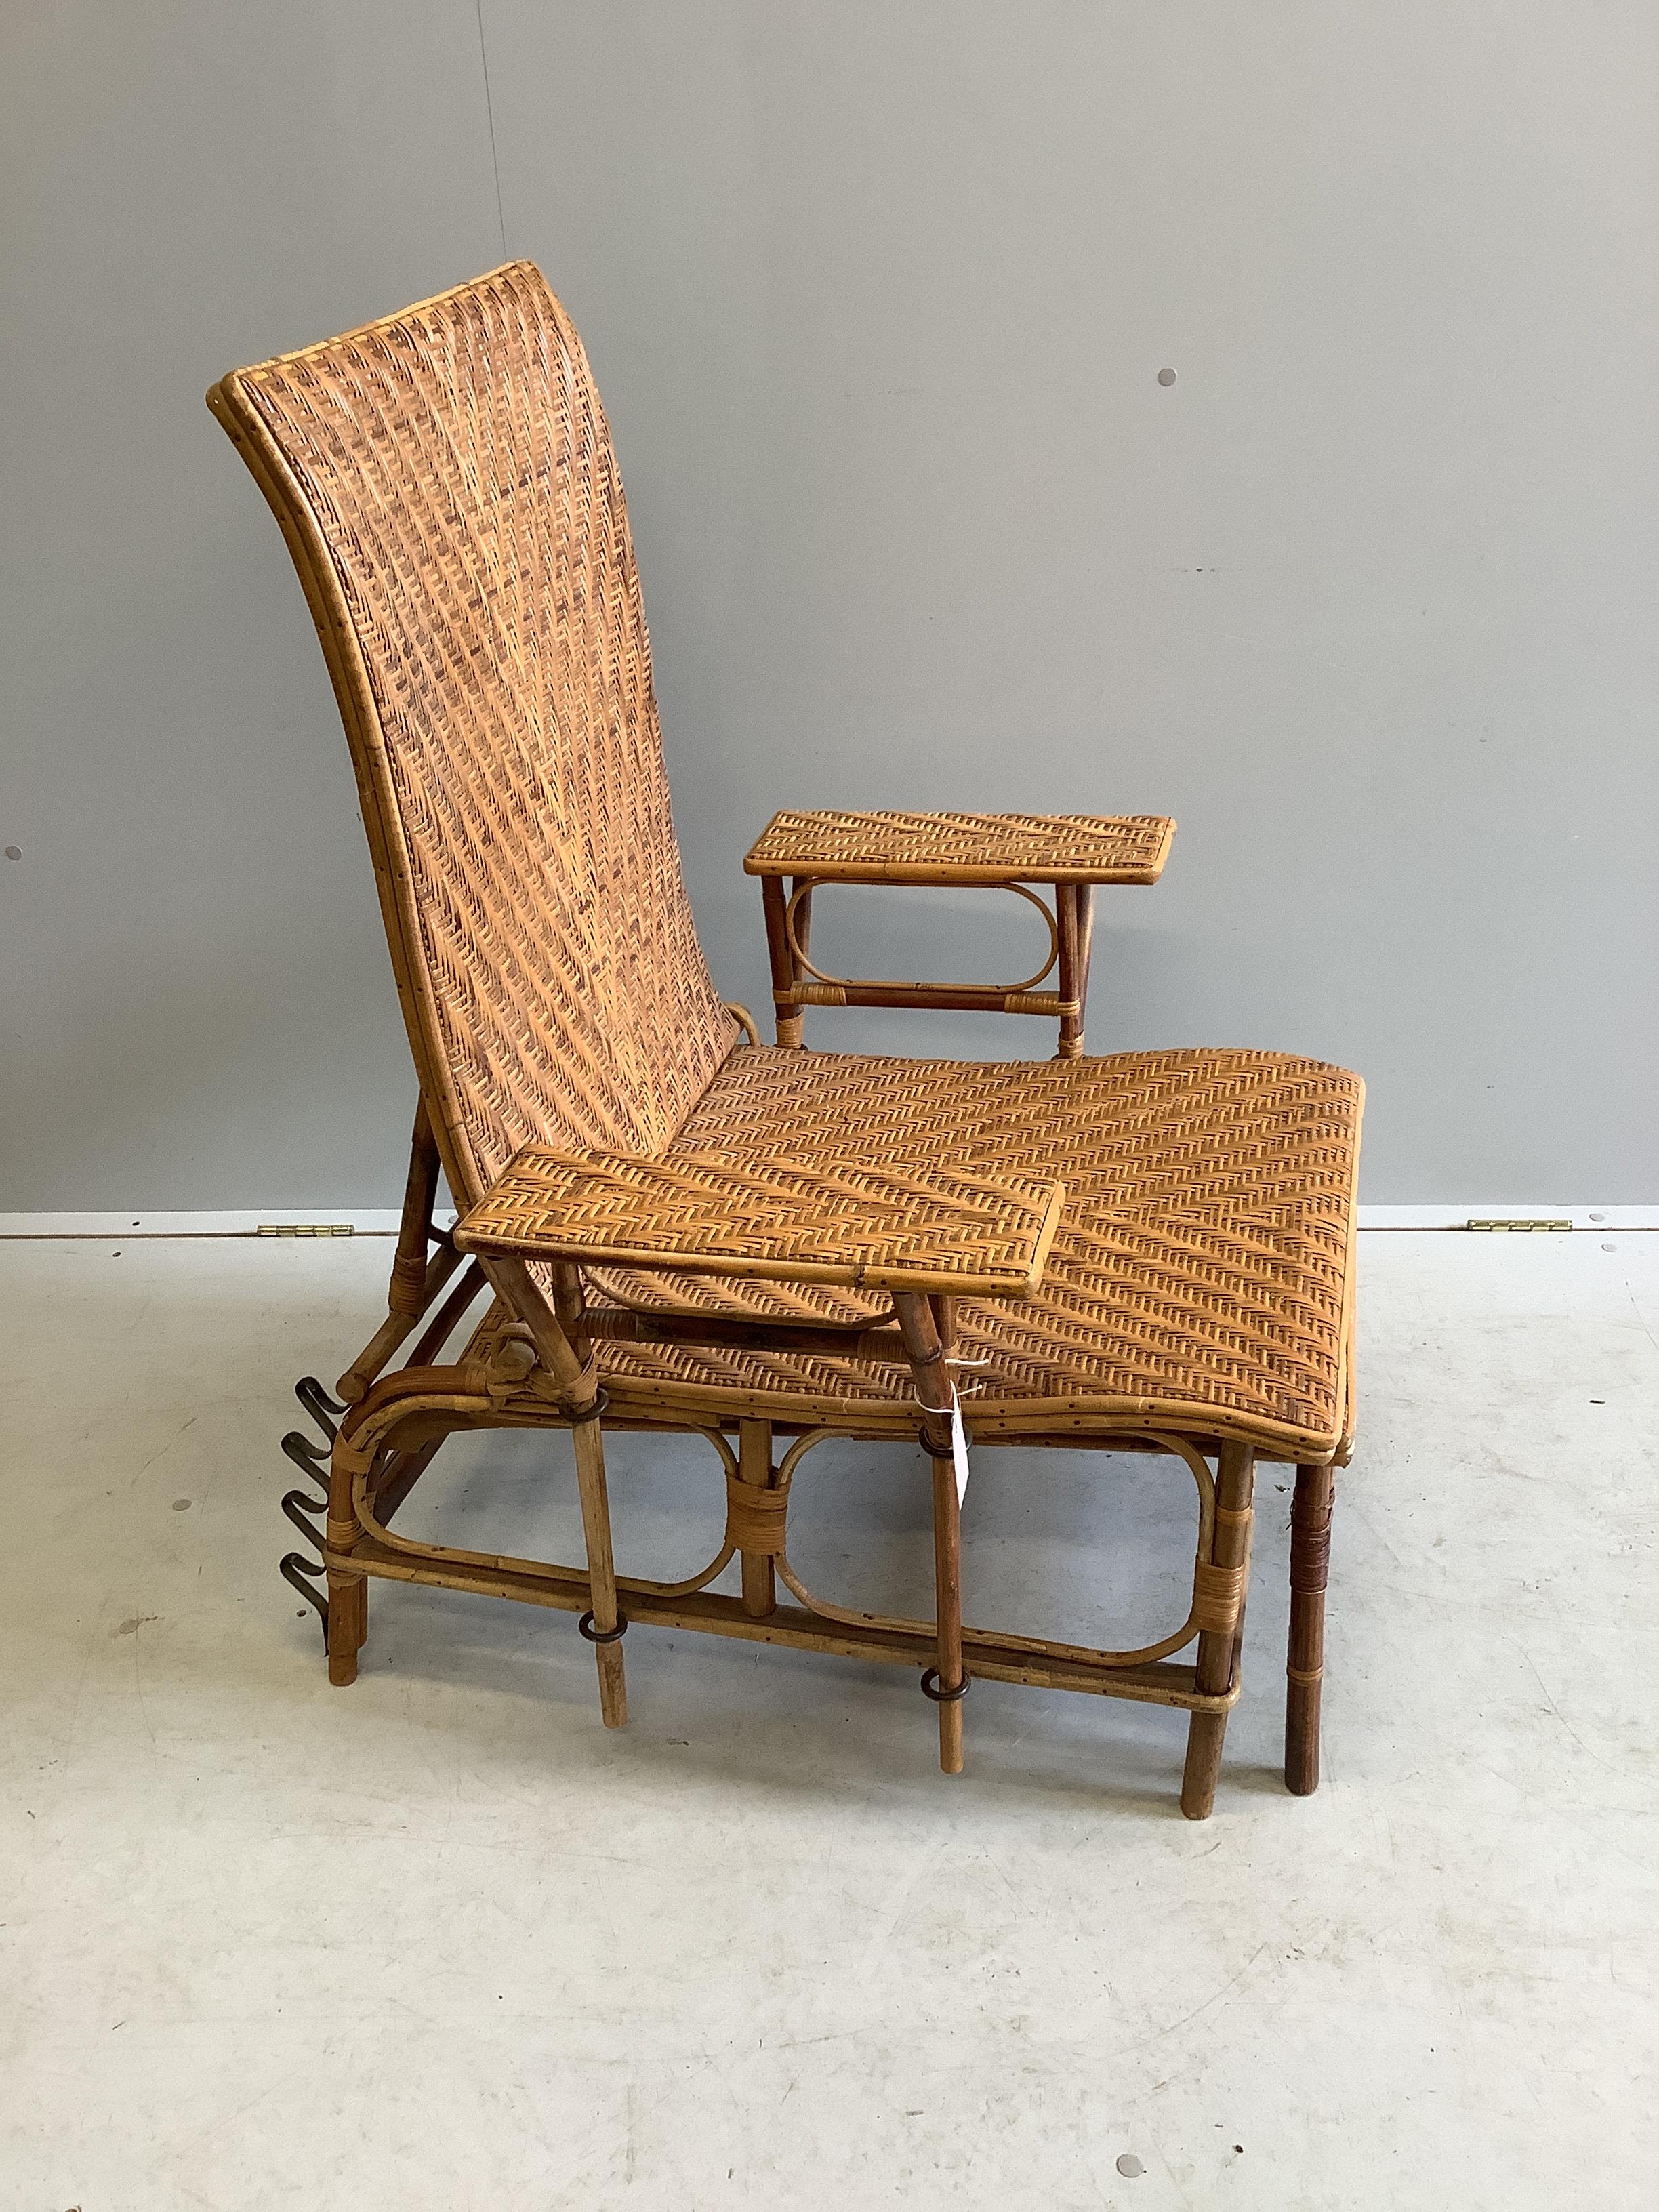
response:
[[(911, 1666), (947, 1772), (973, 1674), (1183, 1708), (1181, 1809), (1203, 1818), (1263, 1458), (1296, 1467), (1285, 1774), (1312, 1790), (1360, 1082), (1252, 1051), (1082, 1057), (1064, 1018), (1068, 1057), (1046, 1062), (803, 1051), (787, 991), (781, 1044), (759, 1046), (697, 942), (622, 484), (533, 265), (226, 376), (208, 405), (323, 639), (420, 1079), (387, 1321), (338, 1400), (301, 1385), (325, 1442), (285, 1447), (327, 1469), (327, 1500), (285, 1500), (323, 1564), (283, 1564), (323, 1613), (330, 1679), (354, 1679), (385, 1575), (577, 1613), (611, 1728), (641, 1621)], [(1042, 845), (1042, 821), (1013, 821)], [(1071, 953), (1075, 975), (1075, 931)], [(396, 1531), (442, 1440), (493, 1427), (573, 1431), (584, 1568)], [(703, 1573), (615, 1571), (606, 1427), (714, 1447), (726, 1540)], [(1186, 1621), (1144, 1650), (964, 1626), (969, 1429), (1179, 1458)], [(825, 1436), (931, 1455), (936, 1619), (838, 1608), (794, 1573), (790, 1484)], [(741, 1595), (712, 1590), (732, 1559)]]

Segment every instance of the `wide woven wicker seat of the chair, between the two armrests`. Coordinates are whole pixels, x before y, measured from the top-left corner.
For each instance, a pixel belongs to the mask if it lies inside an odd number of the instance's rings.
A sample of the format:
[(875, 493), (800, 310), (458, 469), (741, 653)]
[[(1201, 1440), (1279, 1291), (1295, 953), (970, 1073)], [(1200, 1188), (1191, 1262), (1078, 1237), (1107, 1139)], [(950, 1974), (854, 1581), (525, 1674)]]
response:
[[(969, 1418), (1062, 1407), (1102, 1418), (1203, 1409), (1263, 1447), (1332, 1449), (1347, 1400), (1352, 1210), (1363, 1084), (1272, 1053), (949, 1062), (737, 1051), (677, 1144), (845, 1159), (847, 1130), (891, 1168), (1055, 1179), (1066, 1206), (1037, 1294), (958, 1310)], [(672, 1148), (670, 1148), (672, 1152)], [(635, 1307), (880, 1318), (836, 1290), (595, 1270)], [(690, 1391), (891, 1416), (902, 1367), (768, 1352), (604, 1343), (608, 1374)]]

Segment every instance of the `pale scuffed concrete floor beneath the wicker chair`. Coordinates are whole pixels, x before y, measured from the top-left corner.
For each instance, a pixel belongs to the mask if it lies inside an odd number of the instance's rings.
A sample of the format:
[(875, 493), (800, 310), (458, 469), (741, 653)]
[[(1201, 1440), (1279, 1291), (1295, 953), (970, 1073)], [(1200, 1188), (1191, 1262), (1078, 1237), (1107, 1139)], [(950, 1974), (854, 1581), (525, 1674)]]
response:
[[(947, 1781), (909, 1674), (641, 1630), (606, 1736), (568, 1615), (445, 1593), (378, 1584), (330, 1690), (276, 1438), (389, 1245), (0, 1245), (0, 2205), (1655, 2205), (1659, 1237), (1610, 1243), (1363, 1239), (1325, 1787), (1265, 1471), (1201, 1827), (1175, 1714), (980, 1683)], [(812, 1582), (927, 1606), (918, 1455), (796, 1495)], [(703, 1447), (615, 1498), (635, 1571), (712, 1553)], [(1150, 1635), (1188, 1511), (980, 1453), (971, 1615)], [(407, 1513), (580, 1555), (562, 1440)]]

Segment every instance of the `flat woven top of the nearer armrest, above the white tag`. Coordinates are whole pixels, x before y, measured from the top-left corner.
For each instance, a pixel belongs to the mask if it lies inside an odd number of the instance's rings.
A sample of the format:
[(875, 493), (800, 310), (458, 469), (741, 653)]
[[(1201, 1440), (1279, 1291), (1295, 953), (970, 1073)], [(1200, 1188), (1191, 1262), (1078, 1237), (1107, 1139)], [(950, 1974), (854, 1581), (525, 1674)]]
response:
[(484, 1259), (1024, 1298), (1064, 1186), (730, 1152), (646, 1159), (529, 1144), (456, 1223)]

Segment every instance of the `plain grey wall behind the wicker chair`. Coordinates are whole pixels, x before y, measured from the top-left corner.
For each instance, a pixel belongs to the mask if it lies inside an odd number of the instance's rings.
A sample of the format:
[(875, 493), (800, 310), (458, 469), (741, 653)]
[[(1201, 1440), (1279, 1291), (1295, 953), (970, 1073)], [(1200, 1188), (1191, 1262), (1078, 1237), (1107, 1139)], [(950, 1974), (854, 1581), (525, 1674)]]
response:
[[(201, 389), (504, 252), (606, 394), (730, 995), (779, 805), (1175, 812), (1095, 1048), (1360, 1068), (1374, 1201), (1659, 1197), (1648, 0), (484, 0), (489, 102), (473, 0), (276, 15), (9, 22), (0, 1206), (396, 1197), (345, 748)], [(1015, 973), (989, 905), (821, 931)]]

